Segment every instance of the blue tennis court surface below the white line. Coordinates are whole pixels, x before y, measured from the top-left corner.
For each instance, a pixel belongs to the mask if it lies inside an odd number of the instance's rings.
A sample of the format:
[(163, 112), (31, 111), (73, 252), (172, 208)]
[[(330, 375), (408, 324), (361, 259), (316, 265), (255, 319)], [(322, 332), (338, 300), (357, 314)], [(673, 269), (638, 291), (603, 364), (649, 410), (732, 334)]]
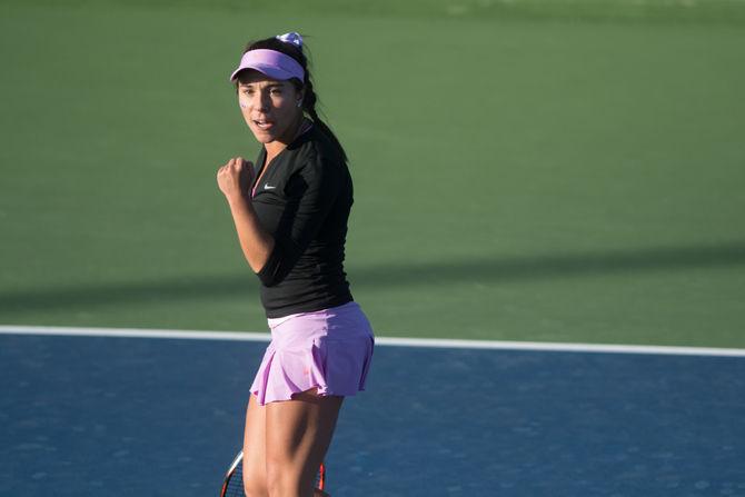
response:
[[(0, 335), (0, 495), (211, 496), (265, 342)], [(745, 496), (745, 357), (376, 348), (335, 497)]]

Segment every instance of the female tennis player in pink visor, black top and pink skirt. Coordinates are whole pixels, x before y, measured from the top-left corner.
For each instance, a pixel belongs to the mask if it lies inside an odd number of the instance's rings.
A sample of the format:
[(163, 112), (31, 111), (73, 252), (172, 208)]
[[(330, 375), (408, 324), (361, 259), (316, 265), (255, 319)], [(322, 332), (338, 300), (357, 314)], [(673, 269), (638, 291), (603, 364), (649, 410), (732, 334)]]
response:
[(256, 163), (228, 160), (217, 181), (271, 330), (246, 415), (246, 495), (325, 495), (314, 478), (344, 397), (365, 388), (374, 348), (342, 265), (347, 156), (316, 112), (300, 34), (249, 43), (230, 81), (262, 147)]

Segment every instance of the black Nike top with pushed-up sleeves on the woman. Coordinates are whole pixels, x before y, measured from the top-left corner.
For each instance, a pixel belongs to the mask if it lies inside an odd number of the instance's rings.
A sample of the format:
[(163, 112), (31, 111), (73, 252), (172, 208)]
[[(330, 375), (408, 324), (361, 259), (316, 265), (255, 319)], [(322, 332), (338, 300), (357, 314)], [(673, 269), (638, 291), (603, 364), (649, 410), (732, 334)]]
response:
[(334, 143), (314, 126), (268, 165), (255, 166), (251, 203), (275, 239), (257, 274), (268, 318), (309, 312), (352, 300), (344, 271), (352, 183)]

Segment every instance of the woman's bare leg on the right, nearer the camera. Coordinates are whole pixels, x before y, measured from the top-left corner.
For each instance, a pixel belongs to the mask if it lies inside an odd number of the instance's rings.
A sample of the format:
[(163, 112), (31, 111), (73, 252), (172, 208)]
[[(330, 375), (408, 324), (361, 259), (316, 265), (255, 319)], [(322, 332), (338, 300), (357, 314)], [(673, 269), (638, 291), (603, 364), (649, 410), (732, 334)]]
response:
[(314, 497), (318, 467), (326, 456), (342, 397), (316, 389), (266, 406), (266, 468), (271, 497)]

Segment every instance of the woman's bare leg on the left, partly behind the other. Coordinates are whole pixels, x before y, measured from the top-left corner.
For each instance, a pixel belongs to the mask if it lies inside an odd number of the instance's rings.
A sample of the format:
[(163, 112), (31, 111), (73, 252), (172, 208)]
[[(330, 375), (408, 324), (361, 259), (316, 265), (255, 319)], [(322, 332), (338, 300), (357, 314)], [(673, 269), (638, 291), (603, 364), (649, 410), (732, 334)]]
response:
[(247, 497), (268, 497), (266, 406), (260, 406), (251, 394), (246, 410), (244, 431), (244, 489)]

